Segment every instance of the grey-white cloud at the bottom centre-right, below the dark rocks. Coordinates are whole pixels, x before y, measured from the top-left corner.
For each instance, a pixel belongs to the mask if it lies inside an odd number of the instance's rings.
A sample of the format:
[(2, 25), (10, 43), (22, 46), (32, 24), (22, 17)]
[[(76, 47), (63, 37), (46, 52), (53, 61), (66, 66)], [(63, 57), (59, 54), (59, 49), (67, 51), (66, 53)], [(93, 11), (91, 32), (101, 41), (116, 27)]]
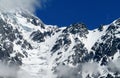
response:
[(96, 62), (81, 63), (75, 67), (59, 65), (56, 68), (55, 74), (57, 78), (86, 78), (89, 74), (91, 77), (97, 78), (100, 74)]

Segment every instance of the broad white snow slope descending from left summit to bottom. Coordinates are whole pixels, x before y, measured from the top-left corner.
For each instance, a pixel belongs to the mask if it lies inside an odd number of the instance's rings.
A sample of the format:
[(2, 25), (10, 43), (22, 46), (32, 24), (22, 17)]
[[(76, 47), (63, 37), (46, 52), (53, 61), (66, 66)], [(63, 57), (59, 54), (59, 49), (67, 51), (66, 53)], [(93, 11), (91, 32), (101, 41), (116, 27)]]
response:
[[(59, 31), (59, 29), (51, 25), (44, 26), (38, 18), (29, 13), (10, 12), (1, 13), (0, 15), (1, 20), (11, 25), (13, 29), (18, 29), (18, 32), (21, 34), (20, 39), (15, 39), (12, 42), (14, 45), (13, 49), (26, 56), (21, 60), (23, 63), (21, 69), (30, 73), (33, 78), (42, 78), (42, 75), (47, 76), (49, 73), (52, 73), (49, 72), (51, 67), (49, 66), (49, 50), (58, 34), (60, 34), (60, 32), (55, 33)], [(34, 36), (36, 39), (38, 38), (38, 40), (34, 40)], [(50, 38), (50, 36), (52, 37)], [(39, 39), (41, 40), (39, 41)], [(8, 41), (11, 42), (10, 40)], [(22, 43), (28, 44), (30, 48), (26, 45), (21, 45)], [(12, 53), (10, 57), (14, 57), (15, 54), (16, 53)]]

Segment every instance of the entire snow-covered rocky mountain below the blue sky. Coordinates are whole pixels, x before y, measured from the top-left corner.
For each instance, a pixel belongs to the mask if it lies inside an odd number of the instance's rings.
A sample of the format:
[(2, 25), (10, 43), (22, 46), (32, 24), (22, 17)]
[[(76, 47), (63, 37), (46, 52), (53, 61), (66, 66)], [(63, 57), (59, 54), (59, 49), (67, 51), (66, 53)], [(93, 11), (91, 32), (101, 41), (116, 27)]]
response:
[(0, 12), (0, 62), (4, 73), (11, 70), (0, 78), (119, 78), (120, 19), (88, 30), (46, 25), (27, 11)]

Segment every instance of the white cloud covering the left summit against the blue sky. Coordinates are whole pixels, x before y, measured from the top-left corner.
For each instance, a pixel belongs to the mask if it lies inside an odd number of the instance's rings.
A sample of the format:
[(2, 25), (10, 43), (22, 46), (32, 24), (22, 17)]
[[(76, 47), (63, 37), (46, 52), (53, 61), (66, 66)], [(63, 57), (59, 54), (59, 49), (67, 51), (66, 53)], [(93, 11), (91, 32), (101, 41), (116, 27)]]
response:
[(25, 9), (34, 12), (36, 7), (41, 8), (47, 0), (0, 0), (0, 10), (9, 11), (14, 9)]

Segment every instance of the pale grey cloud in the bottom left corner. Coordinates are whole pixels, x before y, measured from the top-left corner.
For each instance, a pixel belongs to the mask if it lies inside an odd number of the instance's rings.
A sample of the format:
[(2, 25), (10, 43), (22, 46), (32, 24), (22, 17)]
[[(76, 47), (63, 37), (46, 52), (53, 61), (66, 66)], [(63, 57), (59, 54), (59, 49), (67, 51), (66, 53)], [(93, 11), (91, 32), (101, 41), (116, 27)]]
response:
[(0, 78), (1, 77), (10, 77), (10, 78), (33, 78), (25, 70), (18, 69), (16, 66), (8, 66), (0, 62)]

